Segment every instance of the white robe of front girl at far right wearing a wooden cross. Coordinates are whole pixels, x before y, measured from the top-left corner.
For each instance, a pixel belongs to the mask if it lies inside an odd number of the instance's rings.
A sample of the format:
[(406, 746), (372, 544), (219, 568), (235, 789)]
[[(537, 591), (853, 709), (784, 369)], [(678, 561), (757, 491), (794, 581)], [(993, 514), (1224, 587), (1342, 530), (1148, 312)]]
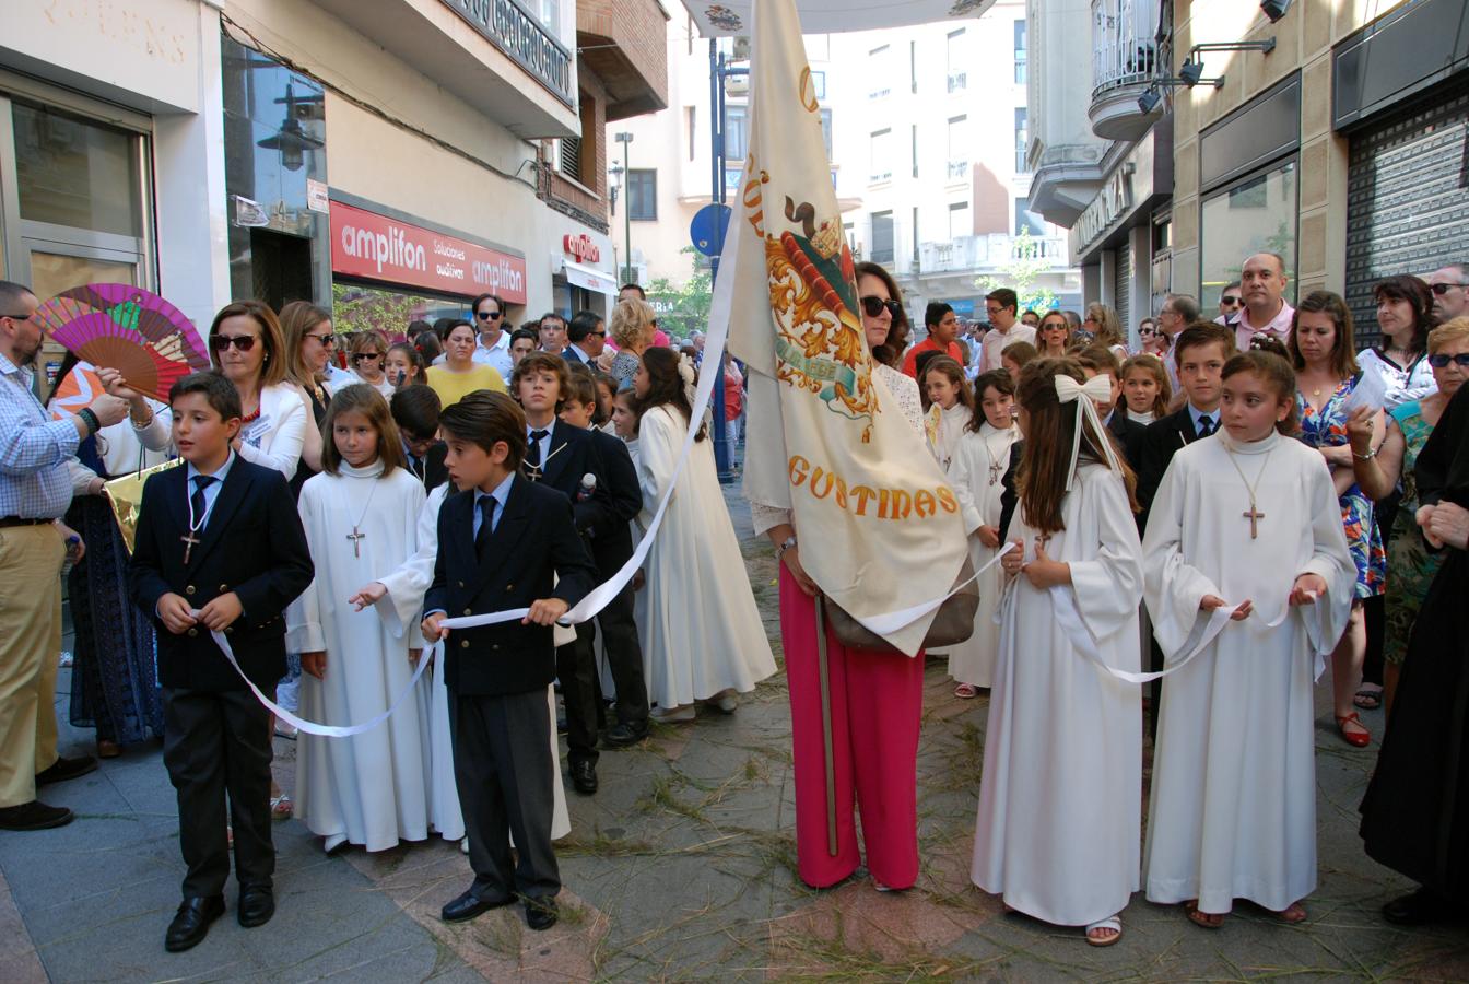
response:
[[(1257, 539), (1230, 449), (1249, 482), (1263, 469)], [(1144, 557), (1165, 667), (1197, 645), (1205, 595), (1255, 602), (1163, 679), (1147, 899), (1197, 899), (1213, 914), (1249, 899), (1279, 912), (1316, 887), (1312, 681), (1346, 629), (1356, 580), (1331, 473), (1315, 449), (1274, 433), (1244, 445), (1227, 432), (1196, 441), (1163, 474)], [(1291, 586), (1306, 573), (1325, 579), (1327, 596), (1291, 609)]]

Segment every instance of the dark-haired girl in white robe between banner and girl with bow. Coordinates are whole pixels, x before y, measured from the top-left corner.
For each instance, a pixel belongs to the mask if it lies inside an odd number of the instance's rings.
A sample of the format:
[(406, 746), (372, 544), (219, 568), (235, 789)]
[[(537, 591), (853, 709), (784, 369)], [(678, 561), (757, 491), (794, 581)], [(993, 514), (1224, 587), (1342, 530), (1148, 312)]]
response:
[(949, 649), (949, 676), (958, 681), (956, 698), (972, 698), (975, 687), (990, 687), (1000, 627), (995, 614), (1000, 608), (1005, 574), (999, 565), (984, 570), (999, 552), (1005, 530), (1000, 524), (1002, 479), (1009, 467), (1011, 445), (1019, 441), (1019, 427), (1011, 414), (1015, 385), (1009, 373), (995, 370), (974, 380), (981, 416), (965, 429), (949, 466), (949, 482), (964, 510), (964, 529), (970, 533), (970, 561), (978, 576), (980, 607), (974, 612), (974, 634)]

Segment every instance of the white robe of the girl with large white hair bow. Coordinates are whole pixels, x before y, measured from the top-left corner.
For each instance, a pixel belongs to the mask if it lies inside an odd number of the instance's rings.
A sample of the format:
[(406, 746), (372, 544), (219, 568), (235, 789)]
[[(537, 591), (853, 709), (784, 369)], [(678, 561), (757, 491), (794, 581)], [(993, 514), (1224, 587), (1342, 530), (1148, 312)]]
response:
[[(1122, 479), (1083, 464), (1062, 499), (1065, 530), (1046, 554), (1071, 586), (1037, 589), (1019, 574), (1000, 604), (971, 877), (984, 891), (1055, 925), (1090, 925), (1127, 908), (1138, 887), (1143, 799), (1141, 693), (1078, 652), (1136, 673), (1143, 551)], [(1034, 560), (1024, 504), (1009, 538)], [(1068, 624), (1066, 611), (1075, 618)]]

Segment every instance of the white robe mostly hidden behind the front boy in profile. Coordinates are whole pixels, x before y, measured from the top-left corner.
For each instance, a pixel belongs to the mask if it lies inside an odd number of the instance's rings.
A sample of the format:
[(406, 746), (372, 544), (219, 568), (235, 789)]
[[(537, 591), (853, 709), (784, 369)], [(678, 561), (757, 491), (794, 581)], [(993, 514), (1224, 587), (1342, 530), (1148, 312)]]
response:
[[(388, 595), (378, 602), (383, 621), (389, 626), (419, 624), (422, 621), (423, 595), (433, 583), (433, 561), (439, 554), (439, 508), (451, 492), (448, 482), (429, 492), (419, 511), (419, 549), (391, 574), (378, 577)], [(429, 777), (429, 827), (444, 840), (464, 837), (464, 812), (458, 802), (458, 786), (454, 781), (454, 733), (450, 730), (450, 690), (444, 686), (442, 667), (425, 671), (429, 683), (429, 755), (433, 761)], [(546, 687), (546, 714), (551, 718), (551, 762), (555, 781), (551, 784), (551, 840), (560, 840), (571, 833), (571, 818), (566, 809), (566, 790), (561, 787), (561, 752), (555, 733), (555, 693)], [(514, 844), (511, 844), (514, 846)]]

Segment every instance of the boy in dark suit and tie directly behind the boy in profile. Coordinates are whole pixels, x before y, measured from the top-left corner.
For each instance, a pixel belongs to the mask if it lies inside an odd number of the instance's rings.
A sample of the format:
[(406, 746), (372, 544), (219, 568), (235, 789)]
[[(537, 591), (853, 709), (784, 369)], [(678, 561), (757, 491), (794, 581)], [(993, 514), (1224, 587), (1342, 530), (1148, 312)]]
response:
[[(576, 530), (586, 543), (626, 529), (613, 505), (602, 458), (592, 435), (557, 419), (566, 402), (570, 376), (566, 360), (551, 352), (530, 352), (516, 364), (510, 394), (526, 414), (527, 479), (571, 501)], [(591, 488), (588, 488), (591, 482)], [(591, 548), (589, 548), (591, 549)], [(592, 626), (576, 627), (576, 642), (555, 654), (557, 679), (566, 702), (566, 746), (571, 786), (583, 796), (596, 792), (596, 654)], [(618, 687), (620, 689), (620, 687)]]

